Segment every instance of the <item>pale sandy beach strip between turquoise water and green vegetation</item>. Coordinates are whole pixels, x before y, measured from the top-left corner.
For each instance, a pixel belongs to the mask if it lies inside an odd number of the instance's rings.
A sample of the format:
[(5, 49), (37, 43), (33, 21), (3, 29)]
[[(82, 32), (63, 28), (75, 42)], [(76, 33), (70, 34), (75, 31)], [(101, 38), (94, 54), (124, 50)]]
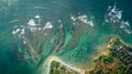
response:
[[(128, 43), (125, 43), (124, 41), (122, 41), (119, 36), (116, 36), (116, 35), (112, 36), (112, 39), (114, 39), (114, 38), (118, 38), (118, 39), (121, 41), (122, 44), (125, 44), (127, 46), (129, 45)], [(110, 40), (111, 40), (111, 39), (110, 39)], [(129, 46), (131, 46), (131, 45), (129, 45)], [(96, 55), (96, 56), (94, 56), (94, 60), (97, 60), (100, 55), (109, 55), (110, 51), (109, 51), (108, 49), (111, 47), (110, 44), (109, 44), (109, 42), (108, 42), (108, 44), (105, 45), (105, 46), (97, 46), (97, 47), (101, 51), (101, 53), (98, 54), (98, 55)], [(101, 49), (105, 49), (105, 50), (101, 50)], [(46, 67), (46, 74), (50, 74), (51, 63), (52, 63), (53, 61), (59, 62), (62, 65), (66, 66), (67, 68), (73, 70), (73, 71), (76, 71), (76, 72), (78, 72), (79, 74), (85, 74), (87, 71), (92, 71), (92, 70), (95, 68), (95, 67), (94, 67), (94, 65), (95, 65), (94, 63), (92, 63), (92, 67), (91, 67), (91, 68), (82, 70), (82, 68), (78, 68), (78, 67), (72, 66), (70, 64), (64, 62), (64, 61), (63, 61), (62, 59), (59, 59), (58, 56), (51, 55), (51, 56), (48, 56), (48, 57), (46, 59), (45, 63), (43, 64), (43, 65), (46, 65), (46, 66), (47, 66), (47, 67)]]

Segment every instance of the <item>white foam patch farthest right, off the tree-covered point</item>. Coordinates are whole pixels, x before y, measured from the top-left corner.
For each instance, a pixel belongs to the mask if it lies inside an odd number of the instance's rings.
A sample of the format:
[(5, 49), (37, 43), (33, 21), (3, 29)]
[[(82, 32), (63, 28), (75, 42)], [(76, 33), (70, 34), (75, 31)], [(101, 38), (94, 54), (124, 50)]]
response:
[(105, 19), (107, 23), (110, 22), (112, 24), (116, 24), (116, 27), (119, 27), (125, 33), (132, 34), (129, 21), (122, 20), (122, 12), (123, 12), (122, 10), (119, 10), (114, 4), (113, 7), (109, 6), (108, 11), (109, 12), (107, 13)]

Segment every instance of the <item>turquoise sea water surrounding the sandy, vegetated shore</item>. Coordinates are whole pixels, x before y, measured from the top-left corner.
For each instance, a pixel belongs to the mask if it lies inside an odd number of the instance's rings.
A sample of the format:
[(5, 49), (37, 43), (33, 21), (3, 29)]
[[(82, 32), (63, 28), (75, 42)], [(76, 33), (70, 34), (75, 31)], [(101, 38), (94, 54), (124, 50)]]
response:
[[(32, 74), (51, 54), (89, 67), (110, 36), (132, 45), (131, 10), (131, 0), (1, 0), (0, 73)], [(41, 25), (29, 25), (31, 19), (38, 23), (36, 15)], [(41, 29), (47, 22), (53, 28)]]

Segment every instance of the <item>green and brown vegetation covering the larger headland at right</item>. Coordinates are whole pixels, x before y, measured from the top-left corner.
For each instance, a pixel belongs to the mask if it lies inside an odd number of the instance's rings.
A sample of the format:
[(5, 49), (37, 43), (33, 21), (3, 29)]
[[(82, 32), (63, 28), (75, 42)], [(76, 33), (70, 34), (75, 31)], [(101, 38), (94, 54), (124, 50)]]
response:
[(132, 74), (132, 47), (113, 36), (108, 44), (108, 55), (94, 61), (95, 68), (86, 74)]

